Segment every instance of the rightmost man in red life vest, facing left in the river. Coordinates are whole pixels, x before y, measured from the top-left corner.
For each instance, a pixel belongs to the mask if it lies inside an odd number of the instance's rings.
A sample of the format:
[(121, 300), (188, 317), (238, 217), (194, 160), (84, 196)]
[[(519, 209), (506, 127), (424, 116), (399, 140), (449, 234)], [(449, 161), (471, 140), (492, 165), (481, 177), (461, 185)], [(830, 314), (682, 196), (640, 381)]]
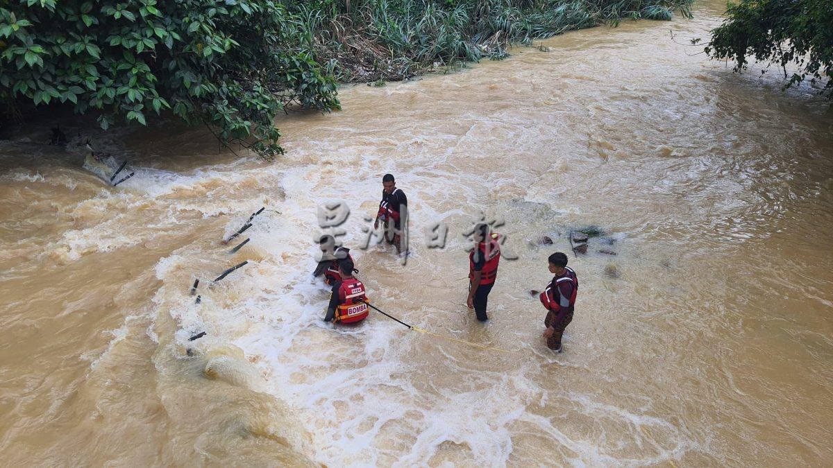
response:
[(570, 325), (573, 307), (576, 306), (578, 277), (576, 271), (567, 267), (567, 256), (560, 251), (552, 254), (547, 261), (550, 272), (555, 276), (538, 298), (546, 308), (546, 346), (552, 351), (561, 352), (561, 336), (564, 336), (564, 330)]

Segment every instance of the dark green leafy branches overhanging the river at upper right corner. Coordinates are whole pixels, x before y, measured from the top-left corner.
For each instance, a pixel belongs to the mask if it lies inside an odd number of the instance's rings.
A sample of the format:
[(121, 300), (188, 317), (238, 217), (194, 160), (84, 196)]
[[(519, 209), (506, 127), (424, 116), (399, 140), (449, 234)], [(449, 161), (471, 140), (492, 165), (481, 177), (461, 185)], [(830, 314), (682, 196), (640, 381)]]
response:
[[(821, 93), (833, 99), (833, 2), (831, 0), (741, 0), (730, 4), (728, 19), (712, 31), (706, 46), (710, 57), (732, 58), (735, 71), (745, 70), (747, 57), (776, 64), (789, 77), (785, 88), (824, 82)], [(787, 65), (799, 72), (791, 76)]]

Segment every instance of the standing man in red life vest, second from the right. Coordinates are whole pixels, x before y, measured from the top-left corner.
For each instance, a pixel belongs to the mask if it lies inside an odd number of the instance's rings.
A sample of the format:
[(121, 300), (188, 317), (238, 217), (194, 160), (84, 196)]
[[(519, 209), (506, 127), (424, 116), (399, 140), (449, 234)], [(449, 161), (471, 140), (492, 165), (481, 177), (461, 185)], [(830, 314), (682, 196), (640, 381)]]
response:
[(501, 246), (497, 243), (501, 235), (489, 234), (487, 224), (478, 224), (474, 229), (474, 250), (469, 254), (469, 296), (466, 306), (474, 309), (479, 321), (489, 320), (486, 316), (486, 302), (491, 286), (495, 286), (497, 264), (501, 261)]

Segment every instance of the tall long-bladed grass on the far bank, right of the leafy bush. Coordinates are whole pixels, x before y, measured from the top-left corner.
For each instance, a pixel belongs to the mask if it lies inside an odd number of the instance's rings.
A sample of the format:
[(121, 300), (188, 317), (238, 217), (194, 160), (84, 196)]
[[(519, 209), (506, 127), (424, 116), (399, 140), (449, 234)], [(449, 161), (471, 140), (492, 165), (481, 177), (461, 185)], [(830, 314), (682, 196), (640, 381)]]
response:
[(691, 17), (693, 0), (315, 0), (289, 2), (294, 35), (341, 82), (399, 80), (506, 57), (572, 29)]

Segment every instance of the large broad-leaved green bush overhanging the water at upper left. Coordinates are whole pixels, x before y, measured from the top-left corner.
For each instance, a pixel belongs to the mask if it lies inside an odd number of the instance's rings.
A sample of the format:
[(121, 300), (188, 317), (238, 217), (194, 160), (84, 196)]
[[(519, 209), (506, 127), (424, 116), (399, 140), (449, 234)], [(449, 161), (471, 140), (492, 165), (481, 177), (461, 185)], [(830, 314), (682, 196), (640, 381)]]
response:
[(267, 158), (282, 152), (277, 112), (338, 107), (336, 82), (302, 49), (277, 2), (4, 3), (4, 101), (70, 102), (104, 129), (120, 118), (144, 125), (170, 109)]

